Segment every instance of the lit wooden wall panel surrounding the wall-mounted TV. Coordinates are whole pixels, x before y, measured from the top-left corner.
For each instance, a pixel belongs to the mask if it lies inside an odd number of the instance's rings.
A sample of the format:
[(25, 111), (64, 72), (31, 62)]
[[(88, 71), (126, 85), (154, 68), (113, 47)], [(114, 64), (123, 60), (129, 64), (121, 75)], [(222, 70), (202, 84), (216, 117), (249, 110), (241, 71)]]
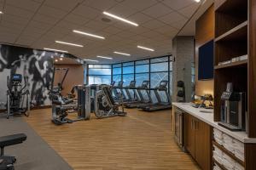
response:
[(198, 48), (214, 38), (214, 6), (196, 20), (195, 23), (195, 94), (213, 94), (213, 80), (198, 80)]

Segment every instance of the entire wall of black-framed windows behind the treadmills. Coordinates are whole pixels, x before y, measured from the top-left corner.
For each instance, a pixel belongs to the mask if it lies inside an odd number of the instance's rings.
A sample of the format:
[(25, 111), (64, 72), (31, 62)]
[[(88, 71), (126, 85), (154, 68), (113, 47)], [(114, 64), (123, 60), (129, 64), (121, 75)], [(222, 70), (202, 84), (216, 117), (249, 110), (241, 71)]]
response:
[[(111, 70), (112, 69), (112, 70)], [(172, 95), (172, 56), (163, 56), (152, 59), (141, 59), (113, 65), (88, 65), (88, 81), (92, 83), (110, 83), (115, 85), (119, 81), (128, 86), (131, 81), (136, 81), (136, 86), (141, 86), (143, 81), (149, 81), (148, 88), (156, 88), (160, 81), (168, 81), (168, 92)], [(145, 92), (143, 92), (146, 95)], [(153, 91), (150, 91), (154, 102), (157, 99)], [(162, 100), (166, 100), (165, 94), (160, 94)]]

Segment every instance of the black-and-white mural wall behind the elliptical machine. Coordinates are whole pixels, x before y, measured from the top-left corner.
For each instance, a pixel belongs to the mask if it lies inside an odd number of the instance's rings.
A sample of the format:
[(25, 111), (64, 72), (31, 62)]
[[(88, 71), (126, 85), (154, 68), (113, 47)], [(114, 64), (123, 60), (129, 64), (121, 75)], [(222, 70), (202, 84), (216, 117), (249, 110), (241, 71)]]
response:
[(53, 77), (53, 59), (64, 55), (73, 58), (69, 54), (0, 45), (0, 109), (6, 103), (7, 77), (15, 73), (26, 77), (26, 88), (30, 91), (33, 105), (50, 105), (48, 94)]

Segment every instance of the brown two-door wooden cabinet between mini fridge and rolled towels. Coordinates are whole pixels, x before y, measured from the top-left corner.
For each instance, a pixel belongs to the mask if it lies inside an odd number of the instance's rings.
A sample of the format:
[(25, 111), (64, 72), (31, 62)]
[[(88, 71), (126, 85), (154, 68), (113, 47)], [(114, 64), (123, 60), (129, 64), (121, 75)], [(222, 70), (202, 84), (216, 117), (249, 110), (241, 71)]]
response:
[(184, 146), (204, 170), (211, 169), (211, 127), (187, 113), (184, 114)]

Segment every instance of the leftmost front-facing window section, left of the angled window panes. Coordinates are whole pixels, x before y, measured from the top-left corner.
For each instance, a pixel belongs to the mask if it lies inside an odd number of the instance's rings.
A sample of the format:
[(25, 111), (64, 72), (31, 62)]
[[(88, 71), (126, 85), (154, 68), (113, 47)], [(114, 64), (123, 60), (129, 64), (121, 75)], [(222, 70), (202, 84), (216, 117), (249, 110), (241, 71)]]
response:
[(89, 84), (109, 84), (111, 82), (111, 65), (88, 65)]

